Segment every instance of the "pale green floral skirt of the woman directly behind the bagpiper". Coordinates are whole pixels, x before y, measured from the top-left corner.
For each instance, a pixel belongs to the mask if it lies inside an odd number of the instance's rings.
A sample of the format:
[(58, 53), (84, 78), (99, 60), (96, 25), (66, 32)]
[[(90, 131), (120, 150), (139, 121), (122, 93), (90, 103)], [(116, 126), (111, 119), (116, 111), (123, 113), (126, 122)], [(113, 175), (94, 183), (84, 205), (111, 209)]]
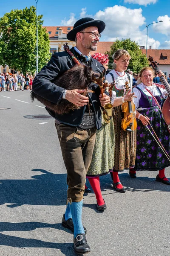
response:
[(114, 165), (114, 125), (113, 119), (109, 124), (102, 120), (102, 128), (96, 132), (91, 165), (88, 169), (87, 178), (98, 177), (108, 174)]

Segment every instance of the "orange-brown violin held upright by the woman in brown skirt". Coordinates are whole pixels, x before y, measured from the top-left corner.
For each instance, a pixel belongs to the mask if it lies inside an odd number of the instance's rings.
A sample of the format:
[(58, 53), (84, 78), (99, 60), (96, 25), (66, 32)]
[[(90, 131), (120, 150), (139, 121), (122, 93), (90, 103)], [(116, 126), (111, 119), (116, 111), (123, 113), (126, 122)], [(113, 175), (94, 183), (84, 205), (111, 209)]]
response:
[[(126, 93), (129, 90), (128, 81), (125, 82)], [(137, 128), (137, 122), (135, 117), (135, 104), (132, 102), (124, 102), (122, 104), (122, 112), (124, 117), (121, 122), (123, 131), (135, 131)]]

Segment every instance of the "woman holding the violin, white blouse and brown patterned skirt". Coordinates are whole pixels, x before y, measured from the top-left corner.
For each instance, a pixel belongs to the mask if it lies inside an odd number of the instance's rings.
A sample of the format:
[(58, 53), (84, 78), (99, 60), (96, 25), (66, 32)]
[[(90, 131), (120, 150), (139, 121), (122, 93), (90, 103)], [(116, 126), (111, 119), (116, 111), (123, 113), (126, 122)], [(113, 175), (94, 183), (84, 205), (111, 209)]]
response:
[[(113, 122), (115, 130), (115, 151), (114, 151), (114, 167), (111, 176), (113, 179), (113, 187), (118, 192), (125, 192), (122, 183), (119, 180), (118, 172), (123, 172), (124, 169), (130, 169), (130, 176), (133, 177), (133, 168), (135, 165), (136, 157), (136, 131), (134, 132), (134, 150), (132, 143), (132, 132), (123, 131), (121, 128), (122, 122), (122, 104), (125, 101), (131, 101), (131, 95), (125, 96), (125, 82), (128, 81), (130, 88), (132, 88), (132, 76), (125, 73), (130, 61), (130, 54), (124, 50), (119, 49), (113, 54), (113, 70), (108, 73), (106, 79), (109, 83), (115, 81), (116, 85), (113, 87), (113, 91), (116, 93), (116, 97), (119, 98), (119, 102), (114, 101), (113, 108)], [(119, 104), (117, 104), (119, 103)]]

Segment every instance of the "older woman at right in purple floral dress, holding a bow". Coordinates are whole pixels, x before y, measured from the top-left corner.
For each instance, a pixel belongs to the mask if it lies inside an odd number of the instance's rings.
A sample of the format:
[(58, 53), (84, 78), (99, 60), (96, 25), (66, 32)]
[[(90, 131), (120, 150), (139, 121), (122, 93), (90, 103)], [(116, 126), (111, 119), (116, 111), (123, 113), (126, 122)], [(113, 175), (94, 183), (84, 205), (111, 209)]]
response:
[[(138, 123), (135, 170), (159, 171), (156, 181), (170, 185), (170, 181), (164, 174), (164, 169), (170, 166), (170, 161), (147, 129), (147, 127), (150, 128), (149, 121), (169, 154), (170, 134), (161, 113), (167, 92), (153, 83), (153, 75), (152, 68), (142, 68), (139, 74), (140, 83), (134, 88), (134, 93), (137, 96), (134, 103)], [(159, 76), (164, 76), (164, 74), (160, 71)]]

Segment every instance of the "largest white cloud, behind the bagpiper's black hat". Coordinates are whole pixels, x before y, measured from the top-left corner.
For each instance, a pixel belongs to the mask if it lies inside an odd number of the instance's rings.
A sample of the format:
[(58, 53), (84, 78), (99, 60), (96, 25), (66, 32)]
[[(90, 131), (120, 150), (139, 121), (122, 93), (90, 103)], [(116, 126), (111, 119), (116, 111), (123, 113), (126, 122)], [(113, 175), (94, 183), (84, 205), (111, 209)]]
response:
[[(146, 29), (140, 30), (140, 27), (145, 24), (145, 17), (142, 15), (142, 9), (130, 9), (125, 6), (115, 5), (107, 7), (103, 11), (98, 11), (94, 16), (86, 13), (86, 8), (81, 9), (80, 16), (75, 19), (75, 15), (71, 13), (70, 19), (62, 20), (63, 26), (73, 26), (75, 21), (82, 17), (93, 17), (96, 20), (103, 20), (106, 23), (106, 28), (102, 32), (101, 41), (115, 41), (116, 38), (130, 38), (136, 41), (139, 45), (146, 47)], [(73, 23), (71, 23), (73, 22)], [(148, 47), (158, 49), (160, 43), (153, 38), (147, 38)]]

